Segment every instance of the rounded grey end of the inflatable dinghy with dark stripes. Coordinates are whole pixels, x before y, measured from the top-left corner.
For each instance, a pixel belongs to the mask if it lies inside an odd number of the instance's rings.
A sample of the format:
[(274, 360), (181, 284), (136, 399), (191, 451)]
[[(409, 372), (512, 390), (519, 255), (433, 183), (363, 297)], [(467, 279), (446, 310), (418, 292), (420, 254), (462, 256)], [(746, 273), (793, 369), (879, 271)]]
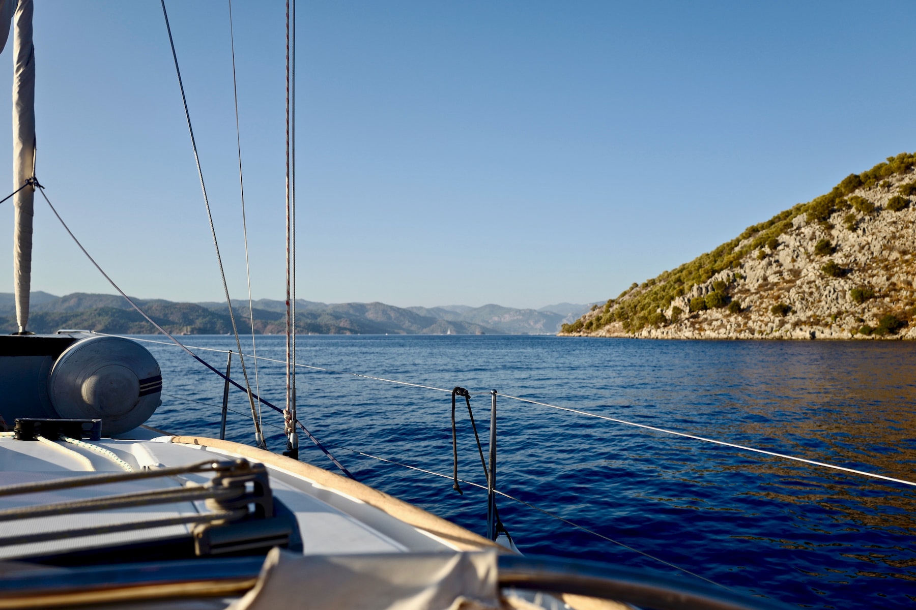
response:
[(51, 369), (49, 398), (63, 418), (102, 420), (106, 436), (133, 430), (162, 403), (153, 355), (122, 337), (89, 337), (64, 350)]

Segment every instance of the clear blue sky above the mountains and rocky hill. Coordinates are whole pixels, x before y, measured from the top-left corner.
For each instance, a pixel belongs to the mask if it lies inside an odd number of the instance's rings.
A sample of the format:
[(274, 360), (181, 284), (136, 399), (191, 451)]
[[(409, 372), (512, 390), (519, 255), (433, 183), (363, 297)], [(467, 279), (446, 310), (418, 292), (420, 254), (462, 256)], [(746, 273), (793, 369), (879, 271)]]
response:
[[(158, 2), (35, 2), (49, 197), (129, 294), (222, 300)], [(241, 297), (227, 5), (168, 6)], [(284, 5), (234, 16), (253, 291), (281, 298)], [(911, 2), (300, 1), (300, 297), (616, 296), (916, 149), (914, 23)], [(36, 208), (33, 288), (113, 292)]]

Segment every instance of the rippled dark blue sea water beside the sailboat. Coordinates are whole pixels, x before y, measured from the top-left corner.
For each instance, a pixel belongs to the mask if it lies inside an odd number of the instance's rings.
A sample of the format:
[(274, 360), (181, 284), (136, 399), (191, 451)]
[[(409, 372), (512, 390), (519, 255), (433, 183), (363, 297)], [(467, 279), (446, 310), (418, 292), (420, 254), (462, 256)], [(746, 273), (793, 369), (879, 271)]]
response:
[[(234, 348), (230, 337), (184, 338)], [(162, 365), (165, 393), (200, 401), (165, 396), (149, 423), (217, 435), (222, 381), (177, 348), (146, 345)], [(257, 347), (259, 356), (284, 358), (283, 337), (258, 337)], [(225, 354), (199, 353), (224, 368)], [(912, 343), (300, 337), (299, 361), (463, 386), (476, 393), (472, 406), (484, 442), (485, 392), (495, 388), (916, 479)], [(283, 365), (261, 361), (258, 370), (262, 395), (282, 405)], [(233, 377), (241, 378), (237, 359)], [(324, 442), (452, 472), (446, 393), (301, 371), (299, 399), (300, 419)], [(234, 391), (230, 406), (227, 437), (252, 444), (245, 394)], [(467, 412), (459, 407), (460, 476), (483, 484)], [(497, 487), (512, 496), (739, 591), (802, 607), (916, 605), (916, 487), (502, 398), (497, 412)], [(270, 448), (281, 450), (280, 416), (265, 412), (265, 422)], [(302, 459), (333, 469), (307, 445), (303, 439)], [(368, 485), (484, 532), (485, 492), (464, 486), (459, 496), (447, 479), (332, 451)], [(693, 578), (506, 498), (499, 508), (523, 552)]]

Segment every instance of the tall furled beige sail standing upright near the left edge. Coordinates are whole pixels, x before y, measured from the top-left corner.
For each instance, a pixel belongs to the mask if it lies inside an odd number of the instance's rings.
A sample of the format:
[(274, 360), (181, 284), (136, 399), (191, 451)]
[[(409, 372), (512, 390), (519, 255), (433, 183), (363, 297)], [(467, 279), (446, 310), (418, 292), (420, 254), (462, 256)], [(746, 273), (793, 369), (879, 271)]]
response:
[[(10, 0), (6, 0), (10, 2)], [(22, 187), (35, 177), (35, 47), (32, 45), (32, 0), (19, 0), (13, 17), (13, 183)], [(32, 217), (35, 187), (16, 193), (13, 229), (13, 275), (16, 324), (26, 333), (32, 284)]]

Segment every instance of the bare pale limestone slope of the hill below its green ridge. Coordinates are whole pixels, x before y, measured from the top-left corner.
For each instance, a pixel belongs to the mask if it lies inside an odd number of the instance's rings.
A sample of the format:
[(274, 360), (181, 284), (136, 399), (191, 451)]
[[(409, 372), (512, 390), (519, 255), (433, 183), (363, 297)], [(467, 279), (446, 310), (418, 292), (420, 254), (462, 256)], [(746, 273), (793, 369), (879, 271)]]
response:
[[(888, 205), (890, 198), (900, 195), (901, 185), (914, 181), (916, 173), (910, 170), (874, 186), (860, 187), (841, 200), (845, 209), (834, 211), (825, 220), (810, 220), (804, 213), (795, 216), (791, 226), (780, 234), (775, 248), (765, 246), (749, 251), (707, 281), (684, 285), (681, 295), (667, 306), (660, 306), (658, 315), (638, 329), (626, 329), (619, 321), (598, 322), (616, 308), (626, 307), (627, 299), (636, 298), (643, 287), (609, 301), (604, 308), (599, 306), (581, 318), (583, 324), (576, 325), (579, 328), (566, 328), (562, 334), (710, 339), (916, 338), (916, 201), (899, 211)], [(908, 191), (904, 188), (902, 192)], [(857, 209), (849, 205), (847, 201), (856, 196), (873, 203), (875, 209), (867, 212), (862, 211), (867, 205)], [(818, 242), (821, 246), (815, 251)], [(750, 242), (742, 241), (736, 250), (746, 243)], [(715, 283), (725, 283), (725, 289)], [(691, 312), (692, 300), (713, 293), (716, 285), (731, 302), (731, 308), (725, 305)], [(735, 304), (740, 304), (740, 309)], [(788, 305), (788, 310), (774, 309), (774, 305)]]

